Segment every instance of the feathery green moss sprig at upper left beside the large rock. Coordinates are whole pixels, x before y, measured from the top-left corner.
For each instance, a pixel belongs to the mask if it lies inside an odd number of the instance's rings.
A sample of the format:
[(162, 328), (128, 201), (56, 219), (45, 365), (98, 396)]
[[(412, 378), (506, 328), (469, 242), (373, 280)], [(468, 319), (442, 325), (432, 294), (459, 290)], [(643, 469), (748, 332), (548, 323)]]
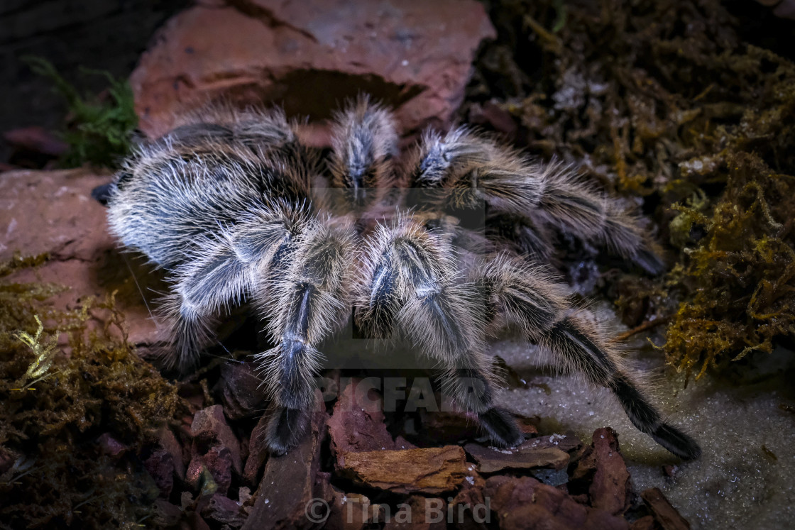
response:
[(68, 128), (63, 136), (69, 150), (60, 161), (64, 167), (92, 164), (113, 168), (130, 153), (130, 137), (138, 126), (138, 116), (133, 91), (126, 80), (84, 68), (83, 74), (105, 77), (108, 87), (104, 98), (83, 98), (47, 60), (31, 56), (25, 60), (33, 72), (50, 79), (54, 91), (66, 99)]

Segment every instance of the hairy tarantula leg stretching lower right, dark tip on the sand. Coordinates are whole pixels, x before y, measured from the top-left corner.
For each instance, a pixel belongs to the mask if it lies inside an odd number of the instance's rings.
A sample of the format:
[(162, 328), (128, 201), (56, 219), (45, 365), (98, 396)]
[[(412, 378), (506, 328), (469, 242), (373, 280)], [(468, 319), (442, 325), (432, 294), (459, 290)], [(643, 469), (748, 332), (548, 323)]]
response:
[(573, 373), (611, 389), (632, 424), (674, 455), (695, 459), (698, 443), (662, 419), (660, 412), (622, 369), (618, 354), (588, 323), (567, 311), (564, 289), (540, 269), (516, 258), (498, 257), (483, 266), (480, 285), (487, 313), (517, 325), (527, 339), (549, 350)]

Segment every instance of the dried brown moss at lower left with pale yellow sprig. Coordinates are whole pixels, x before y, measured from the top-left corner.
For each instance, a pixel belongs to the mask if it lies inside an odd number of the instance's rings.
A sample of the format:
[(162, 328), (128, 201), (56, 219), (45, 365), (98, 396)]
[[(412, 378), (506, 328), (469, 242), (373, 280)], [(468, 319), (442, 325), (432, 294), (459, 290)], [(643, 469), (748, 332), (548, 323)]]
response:
[[(61, 290), (0, 283), (0, 528), (140, 528), (159, 490), (136, 452), (183, 404), (112, 296), (54, 311)], [(128, 455), (104, 454), (106, 433)]]

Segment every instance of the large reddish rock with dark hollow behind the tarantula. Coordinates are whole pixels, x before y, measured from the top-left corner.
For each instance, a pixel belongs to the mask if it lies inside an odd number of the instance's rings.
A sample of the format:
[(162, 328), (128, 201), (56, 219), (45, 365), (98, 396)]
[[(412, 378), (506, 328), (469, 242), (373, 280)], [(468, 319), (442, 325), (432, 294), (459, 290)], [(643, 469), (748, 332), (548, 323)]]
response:
[(173, 17), (130, 84), (149, 137), (207, 99), (279, 102), (324, 119), (359, 92), (395, 106), (415, 130), (449, 122), (475, 50), (494, 36), (474, 0), (231, 0)]

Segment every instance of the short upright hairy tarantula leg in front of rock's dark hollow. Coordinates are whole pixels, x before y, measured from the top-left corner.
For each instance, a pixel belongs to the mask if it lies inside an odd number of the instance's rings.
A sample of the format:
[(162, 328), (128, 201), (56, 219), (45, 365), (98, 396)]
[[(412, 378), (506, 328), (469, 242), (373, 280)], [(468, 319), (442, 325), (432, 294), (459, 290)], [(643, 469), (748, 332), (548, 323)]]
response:
[(366, 95), (335, 114), (329, 169), (332, 185), (347, 188), (353, 203), (392, 184), (392, 159), (397, 156), (397, 131), (392, 113), (370, 103)]

